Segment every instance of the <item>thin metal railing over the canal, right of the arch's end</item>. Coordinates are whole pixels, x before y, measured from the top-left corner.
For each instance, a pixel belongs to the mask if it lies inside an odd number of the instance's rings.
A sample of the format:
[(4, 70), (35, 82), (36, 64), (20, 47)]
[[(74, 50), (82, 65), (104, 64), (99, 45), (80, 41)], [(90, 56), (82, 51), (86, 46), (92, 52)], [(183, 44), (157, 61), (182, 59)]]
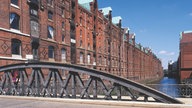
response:
[(148, 84), (147, 86), (172, 97), (192, 98), (192, 84)]

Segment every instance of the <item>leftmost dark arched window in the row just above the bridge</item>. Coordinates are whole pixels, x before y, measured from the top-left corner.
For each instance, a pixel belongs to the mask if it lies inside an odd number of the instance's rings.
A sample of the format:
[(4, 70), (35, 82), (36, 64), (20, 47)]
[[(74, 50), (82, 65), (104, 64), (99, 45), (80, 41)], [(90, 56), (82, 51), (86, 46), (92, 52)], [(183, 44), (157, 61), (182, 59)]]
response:
[(11, 52), (14, 55), (21, 55), (21, 41), (18, 39), (11, 40)]

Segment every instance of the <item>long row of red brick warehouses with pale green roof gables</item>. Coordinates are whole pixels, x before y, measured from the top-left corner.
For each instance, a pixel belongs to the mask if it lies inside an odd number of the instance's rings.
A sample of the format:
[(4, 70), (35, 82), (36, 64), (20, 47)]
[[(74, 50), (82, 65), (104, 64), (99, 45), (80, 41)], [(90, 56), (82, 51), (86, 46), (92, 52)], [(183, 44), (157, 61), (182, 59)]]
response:
[(0, 5), (0, 66), (38, 59), (133, 80), (162, 76), (161, 61), (135, 43), (111, 7), (98, 9), (97, 0), (1, 0)]

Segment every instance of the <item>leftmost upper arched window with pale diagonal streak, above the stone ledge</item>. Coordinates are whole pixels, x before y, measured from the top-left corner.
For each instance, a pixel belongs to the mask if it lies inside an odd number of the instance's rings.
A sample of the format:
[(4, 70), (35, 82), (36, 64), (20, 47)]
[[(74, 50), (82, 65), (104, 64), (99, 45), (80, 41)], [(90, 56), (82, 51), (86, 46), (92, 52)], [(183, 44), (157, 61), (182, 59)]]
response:
[(10, 14), (10, 28), (19, 30), (20, 17), (16, 13)]

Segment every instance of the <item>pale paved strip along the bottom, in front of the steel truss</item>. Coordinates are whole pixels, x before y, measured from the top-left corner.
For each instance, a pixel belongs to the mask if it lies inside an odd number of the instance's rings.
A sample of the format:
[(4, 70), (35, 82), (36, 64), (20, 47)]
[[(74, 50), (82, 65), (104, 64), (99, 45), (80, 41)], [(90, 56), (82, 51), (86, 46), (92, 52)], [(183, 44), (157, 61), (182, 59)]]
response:
[[(191, 99), (189, 99), (191, 100)], [(192, 103), (192, 102), (191, 102)], [(163, 104), (106, 100), (0, 96), (0, 108), (192, 108), (192, 104)]]

